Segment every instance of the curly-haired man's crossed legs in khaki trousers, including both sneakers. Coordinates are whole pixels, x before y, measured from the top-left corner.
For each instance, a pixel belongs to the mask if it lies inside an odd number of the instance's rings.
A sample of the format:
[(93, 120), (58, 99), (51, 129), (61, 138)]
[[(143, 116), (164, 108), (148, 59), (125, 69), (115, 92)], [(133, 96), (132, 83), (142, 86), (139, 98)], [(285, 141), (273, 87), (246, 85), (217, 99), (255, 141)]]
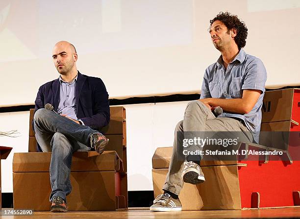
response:
[[(182, 206), (178, 195), (183, 183), (199, 184), (205, 181), (204, 174), (199, 166), (202, 156), (184, 155), (183, 139), (193, 139), (196, 133), (220, 132), (220, 138), (236, 137), (239, 141), (252, 142), (253, 137), (247, 127), (239, 120), (226, 117), (215, 117), (211, 110), (202, 102), (189, 102), (183, 121), (177, 123), (173, 145), (173, 154), (169, 172), (163, 186), (164, 194), (159, 195), (150, 207), (151, 211), (181, 211)], [(222, 133), (223, 132), (223, 133)], [(232, 133), (232, 135), (231, 135)], [(201, 136), (206, 138), (206, 136)], [(214, 135), (218, 138), (218, 135)], [(201, 150), (201, 147), (192, 145), (189, 151)]]

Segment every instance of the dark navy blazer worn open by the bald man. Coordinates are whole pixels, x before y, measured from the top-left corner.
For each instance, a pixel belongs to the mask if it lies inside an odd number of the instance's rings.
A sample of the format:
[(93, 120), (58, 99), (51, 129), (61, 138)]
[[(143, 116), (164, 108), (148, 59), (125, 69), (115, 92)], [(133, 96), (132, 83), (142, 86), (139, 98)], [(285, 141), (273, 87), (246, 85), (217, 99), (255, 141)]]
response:
[[(58, 78), (43, 84), (35, 99), (34, 112), (44, 108), (46, 103), (50, 103), (57, 111), (59, 91)], [(100, 130), (103, 126), (108, 125), (110, 120), (108, 94), (100, 78), (78, 72), (75, 98), (78, 120), (82, 120), (85, 125), (95, 130)]]

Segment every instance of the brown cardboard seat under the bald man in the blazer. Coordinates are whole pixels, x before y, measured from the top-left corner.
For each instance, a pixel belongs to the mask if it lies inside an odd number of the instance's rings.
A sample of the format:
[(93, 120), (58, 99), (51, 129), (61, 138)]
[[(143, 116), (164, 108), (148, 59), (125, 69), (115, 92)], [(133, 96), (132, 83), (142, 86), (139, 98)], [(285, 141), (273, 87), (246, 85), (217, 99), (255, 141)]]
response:
[[(36, 152), (30, 110), (27, 153), (13, 158), (13, 198), (15, 209), (50, 211), (51, 152)], [(96, 151), (77, 151), (72, 157), (72, 192), (67, 196), (69, 211), (100, 211), (127, 208), (126, 116), (124, 107), (110, 107), (111, 122), (105, 136), (109, 144)]]

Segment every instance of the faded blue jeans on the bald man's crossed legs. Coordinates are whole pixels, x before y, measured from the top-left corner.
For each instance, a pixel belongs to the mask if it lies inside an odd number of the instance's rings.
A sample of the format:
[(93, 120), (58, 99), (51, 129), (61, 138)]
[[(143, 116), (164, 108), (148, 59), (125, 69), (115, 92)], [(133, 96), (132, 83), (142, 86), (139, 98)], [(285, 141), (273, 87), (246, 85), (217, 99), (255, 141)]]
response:
[(52, 151), (50, 201), (54, 196), (66, 201), (66, 196), (72, 190), (70, 183), (72, 154), (74, 151), (91, 150), (90, 136), (97, 131), (44, 108), (35, 112), (33, 120), (35, 138), (43, 152)]

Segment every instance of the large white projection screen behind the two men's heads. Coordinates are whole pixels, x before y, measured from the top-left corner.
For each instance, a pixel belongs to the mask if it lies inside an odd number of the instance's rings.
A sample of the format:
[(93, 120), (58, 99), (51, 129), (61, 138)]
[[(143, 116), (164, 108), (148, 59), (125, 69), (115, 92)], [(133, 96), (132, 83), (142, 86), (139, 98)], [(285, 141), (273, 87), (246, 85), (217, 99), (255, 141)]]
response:
[(207, 32), (220, 11), (245, 21), (245, 50), (264, 62), (267, 87), (299, 85), (299, 0), (0, 0), (0, 107), (33, 104), (58, 77), (60, 40), (110, 98), (199, 93), (220, 55)]

